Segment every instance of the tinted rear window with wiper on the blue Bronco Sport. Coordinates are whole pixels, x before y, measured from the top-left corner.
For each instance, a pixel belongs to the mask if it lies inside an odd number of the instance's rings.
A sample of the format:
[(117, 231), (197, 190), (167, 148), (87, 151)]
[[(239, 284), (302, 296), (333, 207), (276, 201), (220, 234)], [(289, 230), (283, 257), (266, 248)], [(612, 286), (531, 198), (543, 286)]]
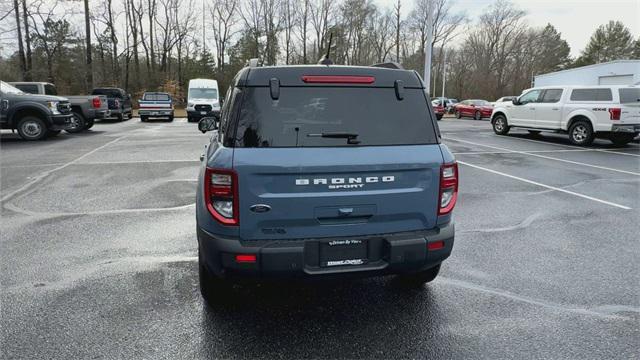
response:
[[(405, 89), (402, 101), (393, 88), (282, 87), (278, 100), (271, 99), (269, 88), (243, 92), (237, 147), (437, 143), (422, 89)], [(346, 138), (326, 137), (331, 134), (357, 137), (349, 144)]]

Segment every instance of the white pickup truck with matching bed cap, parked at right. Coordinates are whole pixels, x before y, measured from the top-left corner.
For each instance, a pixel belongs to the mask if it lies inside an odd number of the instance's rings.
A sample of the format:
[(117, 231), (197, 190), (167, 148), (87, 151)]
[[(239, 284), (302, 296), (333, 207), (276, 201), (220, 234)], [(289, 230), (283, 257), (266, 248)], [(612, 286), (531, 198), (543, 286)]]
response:
[(493, 131), (512, 127), (563, 132), (576, 145), (596, 137), (626, 145), (640, 133), (640, 86), (546, 86), (528, 89), (512, 102), (497, 103)]

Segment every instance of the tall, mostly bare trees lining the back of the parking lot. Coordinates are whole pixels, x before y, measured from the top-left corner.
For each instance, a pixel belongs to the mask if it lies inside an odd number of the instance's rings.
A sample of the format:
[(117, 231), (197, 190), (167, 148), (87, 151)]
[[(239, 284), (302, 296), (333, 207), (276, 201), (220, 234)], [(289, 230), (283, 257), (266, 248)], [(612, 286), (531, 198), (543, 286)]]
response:
[[(533, 76), (574, 66), (640, 58), (624, 24), (597, 28), (576, 59), (551, 25), (497, 0), (477, 19), (453, 0), (12, 0), (0, 6), (0, 79), (54, 82), (65, 94), (94, 86), (184, 96), (189, 79), (223, 89), (250, 58), (264, 65), (309, 64), (327, 52), (336, 64), (395, 61), (422, 74), (433, 9), (430, 93), (487, 98), (519, 94)], [(404, 15), (405, 7), (412, 10)], [(8, 46), (7, 46), (8, 44)]]

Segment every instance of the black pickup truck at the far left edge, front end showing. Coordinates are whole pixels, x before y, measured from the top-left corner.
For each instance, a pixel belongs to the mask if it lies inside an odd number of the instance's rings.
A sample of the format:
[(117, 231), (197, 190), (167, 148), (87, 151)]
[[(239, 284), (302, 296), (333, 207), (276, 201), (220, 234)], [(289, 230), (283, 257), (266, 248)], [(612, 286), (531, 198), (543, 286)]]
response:
[(27, 94), (0, 81), (0, 127), (25, 140), (55, 136), (71, 126), (71, 104), (59, 96)]

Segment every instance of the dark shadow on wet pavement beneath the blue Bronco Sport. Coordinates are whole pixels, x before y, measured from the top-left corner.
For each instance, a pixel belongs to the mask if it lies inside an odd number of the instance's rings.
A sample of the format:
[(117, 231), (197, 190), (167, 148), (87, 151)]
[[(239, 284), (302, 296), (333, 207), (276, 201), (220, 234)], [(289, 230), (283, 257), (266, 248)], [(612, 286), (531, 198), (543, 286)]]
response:
[(412, 342), (424, 346), (447, 323), (429, 287), (405, 290), (388, 280), (234, 290), (225, 305), (203, 305), (204, 357), (406, 358), (395, 350), (418, 351)]

